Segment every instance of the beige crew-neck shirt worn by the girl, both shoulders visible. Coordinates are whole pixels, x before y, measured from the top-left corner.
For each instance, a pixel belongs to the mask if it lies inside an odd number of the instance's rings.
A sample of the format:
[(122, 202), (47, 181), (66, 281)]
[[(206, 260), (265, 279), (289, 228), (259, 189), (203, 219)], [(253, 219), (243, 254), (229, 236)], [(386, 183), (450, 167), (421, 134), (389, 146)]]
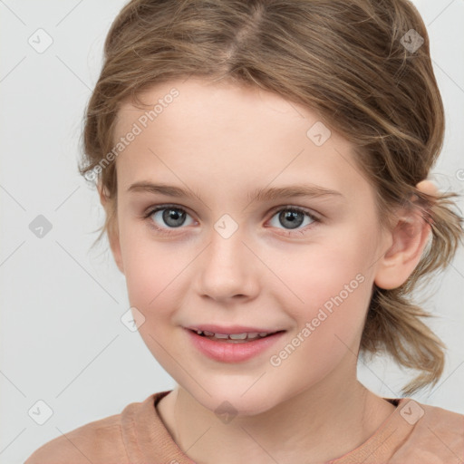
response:
[[(195, 464), (179, 449), (156, 410), (168, 393), (154, 393), (129, 404), (121, 414), (67, 432), (36, 449), (24, 464)], [(396, 410), (372, 437), (326, 464), (464, 463), (463, 414), (411, 398), (387, 400)]]

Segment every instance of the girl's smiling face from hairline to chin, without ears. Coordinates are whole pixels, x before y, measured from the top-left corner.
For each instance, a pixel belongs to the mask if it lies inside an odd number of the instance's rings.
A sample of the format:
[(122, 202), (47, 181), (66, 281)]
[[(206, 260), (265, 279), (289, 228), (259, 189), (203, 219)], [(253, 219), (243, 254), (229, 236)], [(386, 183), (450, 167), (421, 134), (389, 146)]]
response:
[[(386, 243), (350, 144), (314, 112), (237, 84), (173, 81), (143, 101), (158, 103), (151, 121), (126, 103), (115, 132), (131, 141), (116, 159), (113, 253), (150, 352), (211, 411), (227, 400), (256, 414), (347, 365), (354, 375)], [(188, 329), (206, 324), (279, 333), (233, 343)]]

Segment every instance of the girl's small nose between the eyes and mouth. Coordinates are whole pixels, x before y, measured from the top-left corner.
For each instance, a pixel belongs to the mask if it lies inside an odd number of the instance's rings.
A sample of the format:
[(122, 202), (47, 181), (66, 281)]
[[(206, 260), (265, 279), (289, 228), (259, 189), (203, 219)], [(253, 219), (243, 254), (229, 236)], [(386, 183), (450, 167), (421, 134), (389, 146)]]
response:
[(215, 301), (254, 298), (259, 293), (259, 275), (265, 266), (259, 263), (250, 240), (240, 228), (230, 237), (218, 230), (212, 230), (208, 247), (198, 260), (198, 295)]

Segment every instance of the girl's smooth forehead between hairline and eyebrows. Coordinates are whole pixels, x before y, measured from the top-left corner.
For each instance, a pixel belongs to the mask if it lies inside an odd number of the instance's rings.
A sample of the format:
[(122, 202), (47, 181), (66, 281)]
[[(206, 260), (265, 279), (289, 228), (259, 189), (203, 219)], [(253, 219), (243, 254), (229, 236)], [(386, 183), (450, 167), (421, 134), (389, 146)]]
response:
[(115, 142), (137, 132), (116, 160), (122, 187), (182, 178), (192, 188), (214, 179), (215, 189), (304, 180), (348, 194), (368, 189), (350, 143), (316, 112), (275, 93), (190, 78), (158, 84), (140, 99), (146, 108), (121, 106), (114, 132)]

